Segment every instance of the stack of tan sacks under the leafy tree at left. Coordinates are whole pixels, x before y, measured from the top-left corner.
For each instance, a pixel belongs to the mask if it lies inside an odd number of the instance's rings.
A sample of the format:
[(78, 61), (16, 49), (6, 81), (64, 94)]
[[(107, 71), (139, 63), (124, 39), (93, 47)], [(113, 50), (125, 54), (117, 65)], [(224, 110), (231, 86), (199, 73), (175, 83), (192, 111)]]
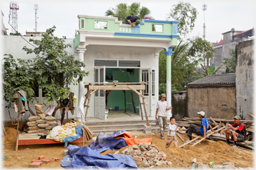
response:
[(41, 119), (39, 116), (30, 116), (27, 122), (27, 133), (45, 133), (57, 126), (57, 122), (53, 116), (46, 116)]

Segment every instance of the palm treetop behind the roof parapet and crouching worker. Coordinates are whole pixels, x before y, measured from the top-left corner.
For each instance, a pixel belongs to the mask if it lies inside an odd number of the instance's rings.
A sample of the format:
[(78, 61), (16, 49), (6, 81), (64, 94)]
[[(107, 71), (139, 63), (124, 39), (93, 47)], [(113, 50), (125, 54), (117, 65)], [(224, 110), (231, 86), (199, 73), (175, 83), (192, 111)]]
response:
[(122, 21), (122, 23), (125, 24), (125, 18), (129, 15), (138, 16), (142, 20), (145, 15), (149, 15), (149, 13), (150, 10), (147, 7), (141, 7), (140, 3), (132, 3), (130, 6), (127, 6), (126, 3), (119, 3), (115, 9), (108, 9), (105, 12), (105, 15), (117, 17), (119, 21)]

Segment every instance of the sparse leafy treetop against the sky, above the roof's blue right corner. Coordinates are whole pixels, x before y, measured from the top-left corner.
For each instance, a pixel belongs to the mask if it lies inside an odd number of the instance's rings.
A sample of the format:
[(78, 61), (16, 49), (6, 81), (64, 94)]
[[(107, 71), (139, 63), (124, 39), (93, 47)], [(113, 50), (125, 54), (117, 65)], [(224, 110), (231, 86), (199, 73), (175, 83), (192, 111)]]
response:
[[(195, 19), (197, 19), (197, 9), (191, 6), (190, 3), (179, 2), (172, 6), (167, 19), (179, 21), (177, 32), (180, 36), (185, 37), (195, 27)], [(181, 37), (179, 37), (181, 39)]]

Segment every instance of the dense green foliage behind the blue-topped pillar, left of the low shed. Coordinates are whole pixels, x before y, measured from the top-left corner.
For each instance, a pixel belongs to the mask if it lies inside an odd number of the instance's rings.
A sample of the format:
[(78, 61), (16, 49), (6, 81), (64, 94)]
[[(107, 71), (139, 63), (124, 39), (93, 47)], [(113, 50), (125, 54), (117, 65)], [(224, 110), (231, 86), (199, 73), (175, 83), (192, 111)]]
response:
[[(196, 48), (197, 46), (197, 48)], [(184, 90), (189, 82), (202, 78), (201, 73), (195, 73), (204, 54), (215, 52), (209, 42), (195, 37), (188, 42), (179, 42), (173, 48), (174, 53), (171, 55), (171, 84), (180, 91)], [(166, 82), (166, 55), (163, 50), (159, 54), (159, 84)]]

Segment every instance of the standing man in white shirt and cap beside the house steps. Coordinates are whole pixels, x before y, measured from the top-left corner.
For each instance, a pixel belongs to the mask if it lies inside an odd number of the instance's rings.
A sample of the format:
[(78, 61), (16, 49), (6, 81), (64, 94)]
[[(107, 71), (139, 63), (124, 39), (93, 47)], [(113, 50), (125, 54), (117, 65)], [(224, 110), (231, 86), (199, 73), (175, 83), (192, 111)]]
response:
[(165, 128), (167, 126), (167, 110), (171, 110), (171, 107), (168, 107), (168, 103), (165, 101), (166, 95), (161, 94), (161, 100), (157, 102), (157, 111), (155, 112), (155, 119), (157, 120), (157, 114), (158, 114), (158, 120), (159, 120), (159, 128), (161, 133), (161, 139), (165, 139), (165, 136), (163, 135), (163, 131), (165, 131)]

